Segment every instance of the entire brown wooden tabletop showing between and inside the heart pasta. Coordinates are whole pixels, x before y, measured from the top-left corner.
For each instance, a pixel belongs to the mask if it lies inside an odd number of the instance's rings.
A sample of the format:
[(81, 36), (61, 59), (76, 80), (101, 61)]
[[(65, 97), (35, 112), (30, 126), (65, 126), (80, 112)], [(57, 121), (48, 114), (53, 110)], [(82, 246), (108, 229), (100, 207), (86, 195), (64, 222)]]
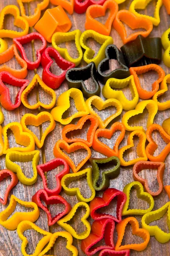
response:
[[(35, 0), (29, 4), (26, 3), (25, 4), (26, 13), (27, 14), (34, 13), (34, 9), (36, 8), (37, 3), (40, 3), (40, 2), (41, 2), (41, 0)], [(128, 9), (130, 6), (130, 3), (131, 3), (131, 0), (126, 0), (125, 3), (119, 5), (119, 9)], [(17, 0), (0, 0), (0, 10), (2, 10), (4, 6), (9, 5), (9, 4), (17, 5)], [(144, 11), (144, 13), (153, 15), (155, 6), (156, 6), (156, 1), (155, 0), (151, 1), (150, 5), (147, 7), (147, 9)], [(54, 7), (54, 6), (50, 4), (49, 8), (52, 8), (52, 7)], [(42, 15), (43, 15), (43, 13), (44, 12), (42, 12)], [(78, 15), (77, 13), (74, 12), (73, 15), (68, 15), (68, 16), (70, 17), (71, 22), (72, 22), (71, 31), (73, 31), (74, 29), (80, 29), (83, 32), (85, 30), (85, 27), (84, 27), (85, 14)], [(168, 27), (170, 25), (170, 16), (167, 15), (167, 12), (166, 12), (166, 9), (164, 6), (161, 7), (160, 17), (161, 17), (161, 23), (158, 27), (153, 28), (153, 31), (150, 34), (150, 36), (152, 36), (152, 37), (161, 36), (162, 33), (166, 29), (168, 29)], [(104, 23), (105, 17), (98, 18), (98, 20), (100, 20)], [(11, 16), (5, 18), (4, 25), (8, 29), (14, 28), (13, 19)], [(131, 30), (129, 28), (127, 28), (127, 30), (128, 30), (128, 33), (131, 33)], [(34, 29), (30, 28), (30, 32), (32, 32), (32, 31), (34, 31)], [(113, 37), (114, 44), (116, 44), (116, 46), (120, 48), (122, 46), (122, 40), (119, 37), (119, 34), (113, 28), (111, 30), (111, 36)], [(8, 42), (8, 46), (10, 46), (12, 44), (11, 39), (6, 39), (6, 41)], [(88, 44), (96, 52), (99, 49), (99, 45), (97, 45), (94, 40), (90, 39), (88, 41)], [(50, 44), (48, 44), (48, 45), (50, 46)], [(75, 56), (77, 54), (76, 49), (74, 47), (74, 42), (66, 43), (65, 46), (67, 47), (67, 49), (71, 55)], [(28, 44), (25, 46), (27, 55), (30, 60), (32, 60), (32, 59), (34, 60), (36, 58), (35, 51), (38, 47), (40, 47), (39, 41), (35, 41), (34, 44)], [(162, 51), (163, 51), (163, 49), (162, 49)], [(17, 67), (17, 63), (15, 60), (11, 60), (9, 62), (9, 64), (11, 67), (14, 67), (14, 65), (15, 65), (16, 68), (19, 68), (19, 67)], [(111, 64), (115, 65), (114, 62), (112, 62)], [(160, 65), (164, 69), (166, 74), (170, 73), (170, 69), (168, 69), (163, 64), (163, 62), (161, 62)], [(81, 66), (85, 66), (84, 61), (81, 62)], [(56, 67), (55, 64), (52, 65), (51, 70), (54, 73), (59, 72), (59, 69)], [(31, 81), (31, 79), (33, 78), (35, 73), (38, 73), (41, 76), (42, 75), (42, 67), (40, 66), (37, 70), (34, 70), (34, 71), (28, 71), (27, 79)], [(140, 76), (140, 81), (142, 83), (142, 86), (147, 90), (151, 90), (151, 84), (152, 84), (152, 81), (154, 81), (154, 79), (155, 79), (155, 74), (151, 73), (151, 72)], [(100, 85), (101, 85), (101, 87), (103, 86), (102, 84), (100, 84)], [(12, 95), (15, 95), (17, 93), (17, 91), (16, 91), (17, 88), (10, 87), (10, 89), (11, 89)], [(68, 85), (67, 85), (66, 81), (63, 82), (63, 84), (61, 85), (61, 87), (59, 87), (58, 90), (55, 90), (57, 98), (65, 90), (68, 90)], [(131, 97), (130, 90), (126, 89), (124, 92), (125, 92), (125, 95), (130, 99), (130, 97)], [(49, 100), (48, 96), (46, 96), (46, 94), (43, 91), (41, 91), (41, 90), (37, 91), (37, 89), (36, 89), (36, 90), (34, 90), (34, 92), (31, 93), (31, 95), (29, 97), (30, 103), (33, 104), (33, 102), (36, 102), (37, 95), (39, 95), (40, 100), (42, 100), (43, 102), (48, 102), (48, 100)], [(102, 96), (102, 93), (100, 96), (102, 99), (104, 99), (104, 97)], [(166, 99), (169, 99), (169, 97), (170, 97), (170, 93), (167, 92)], [(164, 100), (164, 99), (165, 98), (162, 98), (162, 100)], [(41, 109), (31, 111), (31, 110), (25, 108), (23, 105), (21, 105), (19, 108), (17, 108), (14, 111), (6, 111), (3, 108), (2, 108), (2, 111), (5, 116), (5, 120), (3, 122), (3, 126), (4, 126), (4, 125), (8, 124), (8, 122), (14, 122), (14, 121), (20, 122), (21, 117), (25, 113), (37, 114), (40, 111), (46, 111), (46, 110), (41, 108)], [(67, 113), (65, 113), (65, 116), (70, 115), (74, 111), (75, 111), (74, 102), (71, 101), (71, 108), (69, 111), (67, 111)], [(105, 119), (108, 115), (113, 113), (113, 111), (114, 111), (113, 108), (108, 108), (107, 111), (100, 111), (100, 116), (102, 117), (102, 119)], [(121, 121), (122, 115), (124, 113), (125, 113), (125, 111), (122, 112), (121, 116), (114, 119), (113, 122)], [(135, 124), (138, 123), (138, 124), (144, 125), (146, 123), (147, 116), (148, 116), (148, 113), (147, 113), (147, 111), (145, 111), (143, 114), (138, 116), (138, 119), (133, 120), (132, 123), (135, 123)], [(161, 125), (162, 122), (164, 121), (164, 119), (166, 119), (168, 117), (170, 117), (169, 110), (158, 111), (158, 113), (156, 114), (156, 117), (154, 119), (154, 123), (158, 123)], [(78, 121), (78, 119), (74, 119), (74, 121), (72, 123), (75, 124), (75, 123), (77, 123), (77, 121)], [(111, 126), (111, 124), (108, 125), (108, 128)], [(42, 131), (45, 129), (46, 125), (48, 125), (48, 124), (45, 123), (40, 128), (32, 127), (32, 131), (34, 131), (37, 134), (37, 136), (40, 137), (40, 135), (42, 134)], [(39, 163), (45, 163), (54, 158), (53, 148), (54, 148), (54, 145), (57, 142), (57, 140), (62, 138), (62, 128), (63, 128), (63, 125), (56, 122), (56, 128), (54, 129), (54, 131), (52, 131), (47, 136), (44, 146), (40, 150), (40, 162)], [(86, 135), (85, 132), (87, 131), (87, 128), (88, 128), (88, 125), (86, 124), (85, 128), (83, 129), (83, 132), (81, 133), (81, 136), (84, 138)], [(129, 134), (130, 133), (126, 131), (125, 138), (122, 141), (120, 147), (127, 144), (127, 137)], [(118, 134), (114, 135), (111, 138), (111, 140), (103, 139), (103, 141), (105, 143), (107, 143), (107, 145), (111, 146), (115, 142), (117, 135)], [(10, 138), (10, 145), (14, 146), (14, 143), (15, 143), (14, 136), (12, 134), (8, 134), (8, 136)], [(71, 134), (71, 136), (75, 136), (75, 134)], [(155, 132), (153, 136), (159, 145), (159, 147), (156, 151), (156, 154), (157, 154), (160, 150), (162, 150), (164, 148), (164, 142), (161, 140), (158, 133)], [(135, 148), (138, 143), (138, 139), (136, 138), (134, 142), (135, 142), (134, 148), (132, 148), (130, 151), (128, 151), (125, 157), (128, 157), (130, 159), (133, 157), (136, 157)], [(72, 154), (71, 157), (74, 160), (74, 162), (77, 163), (80, 160), (80, 157), (83, 157), (83, 156), (84, 156), (84, 152), (80, 151), (78, 153)], [(92, 149), (92, 157), (98, 158), (98, 157), (105, 157), (105, 156), (99, 154), (98, 152), (96, 152)], [(166, 158), (165, 164), (166, 164), (166, 168), (165, 168), (165, 172), (164, 172), (164, 185), (169, 185), (170, 184), (170, 170), (168, 168), (170, 166), (170, 157), (169, 156)], [(86, 163), (82, 169), (85, 169), (88, 166), (90, 166), (89, 162)], [(31, 171), (30, 163), (21, 165), (21, 167), (24, 170), (24, 173), (26, 173), (27, 175), (31, 175), (32, 171)], [(4, 168), (5, 168), (5, 155), (3, 155), (1, 157), (1, 169), (4, 169)], [(133, 166), (121, 167), (120, 175), (118, 177), (116, 177), (115, 179), (111, 180), (110, 187), (114, 187), (114, 188), (122, 191), (124, 186), (127, 183), (130, 183), (133, 181), (132, 169), (133, 169)], [(50, 188), (55, 187), (55, 175), (56, 175), (56, 172), (59, 172), (59, 170), (60, 170), (60, 168), (57, 168), (57, 169), (53, 170), (52, 172), (48, 173), (47, 179), (48, 179), (48, 186)], [(101, 168), (101, 172), (102, 172), (102, 170), (104, 170), (103, 167)], [(151, 189), (153, 189), (153, 190), (157, 189), (158, 184), (156, 183), (156, 172), (155, 171), (153, 171), (153, 172), (144, 171), (144, 172), (142, 172), (142, 177), (146, 177), (147, 179), (149, 179), (149, 186)], [(3, 180), (3, 182), (0, 182), (0, 196), (3, 196), (3, 193), (5, 191), (6, 186), (8, 185), (8, 182), (9, 182), (8, 179), (6, 181)], [(86, 196), (86, 197), (90, 196), (90, 191), (88, 189), (85, 179), (78, 181), (74, 185), (78, 185), (80, 187), (81, 192), (84, 196)], [(20, 198), (22, 200), (31, 201), (32, 195), (34, 195), (34, 193), (41, 188), (43, 188), (42, 180), (40, 177), (38, 177), (37, 182), (32, 186), (26, 186), (19, 182), (17, 184), (17, 186), (15, 186), (14, 189), (12, 189), (10, 195), (14, 194), (15, 196), (17, 196), (18, 198)], [(76, 196), (68, 196), (63, 191), (61, 192), (60, 195), (62, 195), (71, 204), (71, 206), (73, 206), (74, 204), (76, 204), (78, 202)], [(96, 196), (102, 196), (102, 192), (96, 192)], [(130, 208), (133, 207), (133, 208), (138, 209), (138, 208), (147, 207), (143, 201), (136, 199), (135, 191), (133, 191), (130, 196), (131, 196)], [(153, 210), (158, 209), (161, 206), (163, 206), (168, 201), (166, 192), (163, 191), (161, 193), (161, 195), (154, 198), (154, 201), (155, 201), (155, 206), (154, 206)], [(112, 212), (112, 214), (115, 213), (115, 203), (116, 202), (113, 201), (111, 206), (109, 208), (107, 207), (107, 209), (105, 209), (105, 211), (107, 211), (108, 213)], [(2, 211), (5, 208), (6, 208), (6, 206), (0, 205), (0, 211)], [(59, 212), (59, 210), (61, 210), (61, 209), (62, 208), (59, 208), (57, 206), (50, 207), (50, 211), (54, 215), (56, 214), (56, 212)], [(20, 210), (27, 211), (27, 209), (21, 209), (20, 206), (17, 206), (17, 211), (20, 211)], [(71, 221), (71, 225), (73, 227), (75, 227), (77, 232), (82, 232), (84, 230), (84, 227), (80, 222), (80, 219), (82, 218), (83, 214), (84, 214), (84, 210), (80, 209), (79, 211), (76, 212), (74, 219)], [(135, 217), (138, 219), (139, 224), (141, 225), (141, 217), (140, 216), (135, 216)], [(89, 218), (89, 221), (91, 223), (93, 222), (91, 218)], [(44, 230), (50, 231), (51, 233), (55, 233), (57, 231), (62, 230), (62, 228), (59, 227), (57, 224), (55, 224), (51, 227), (48, 227), (46, 214), (41, 209), (40, 209), (40, 218), (35, 222), (35, 224), (37, 224), (39, 227), (41, 227)], [(156, 221), (155, 224), (158, 224), (162, 230), (168, 232), (168, 228), (167, 228), (167, 224), (166, 224), (166, 215), (164, 216), (164, 218), (161, 218), (160, 221)], [(32, 230), (27, 231), (25, 235), (29, 241), (27, 252), (28, 252), (28, 254), (32, 254), (34, 252), (36, 244), (41, 239), (41, 236), (40, 236), (40, 234), (38, 234)], [(117, 234), (116, 234), (116, 230), (115, 230), (115, 234), (114, 234), (114, 242), (115, 243), (116, 243), (116, 236), (117, 236)], [(129, 226), (127, 226), (126, 233), (125, 233), (125, 236), (123, 239), (123, 243), (133, 243), (133, 242), (138, 242), (138, 241), (139, 240), (136, 236), (131, 235), (131, 228)], [(54, 247), (49, 251), (49, 254), (57, 255), (57, 256), (71, 255), (69, 253), (69, 251), (67, 249), (65, 249), (65, 243), (66, 243), (66, 241), (64, 239), (57, 239), (57, 242), (55, 243)], [(85, 254), (82, 253), (82, 251), (81, 251), (81, 241), (74, 239), (73, 244), (79, 250), (79, 255), (84, 256)], [(0, 255), (2, 255), (2, 256), (21, 256), (22, 253), (20, 251), (20, 247), (21, 247), (21, 241), (20, 241), (19, 237), (17, 236), (16, 230), (10, 231), (10, 230), (6, 230), (4, 227), (0, 226)], [(96, 253), (95, 255), (98, 255), (98, 254), (99, 253)], [(153, 256), (153, 255), (168, 256), (168, 255), (170, 255), (170, 243), (168, 242), (166, 244), (160, 244), (158, 241), (156, 241), (156, 239), (154, 237), (151, 237), (150, 242), (144, 251), (142, 251), (142, 252), (131, 251), (130, 255), (132, 255), (132, 256), (137, 256), (137, 255), (139, 255), (139, 256), (150, 256), (150, 255), (151, 256)]]

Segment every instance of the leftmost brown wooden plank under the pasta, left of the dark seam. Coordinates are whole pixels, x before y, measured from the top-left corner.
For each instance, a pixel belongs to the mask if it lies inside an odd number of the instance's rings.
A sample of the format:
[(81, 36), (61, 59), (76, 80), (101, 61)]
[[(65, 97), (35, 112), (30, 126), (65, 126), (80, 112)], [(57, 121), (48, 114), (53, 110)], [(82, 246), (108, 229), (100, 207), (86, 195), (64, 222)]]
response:
[[(2, 3), (2, 1), (0, 1), (0, 10), (3, 9), (4, 6), (8, 5), (8, 4), (16, 4), (15, 1), (8, 1), (8, 3)], [(13, 18), (11, 17), (7, 17), (4, 20), (4, 26), (7, 28), (13, 28)], [(6, 41), (8, 42), (8, 47), (12, 44), (12, 39), (8, 39), (6, 38)], [(26, 45), (26, 53), (28, 58), (32, 59), (32, 45), (28, 44)], [(9, 64), (11, 67), (16, 67), (16, 68), (20, 68), (20, 66), (17, 64), (16, 60), (14, 60), (14, 58), (9, 61)], [(31, 81), (34, 77), (34, 70), (33, 71), (28, 71), (28, 76), (26, 77), (26, 79), (28, 79), (29, 81)], [(9, 87), (11, 95), (14, 97), (17, 93), (17, 88), (10, 86)], [(36, 91), (34, 93), (32, 93), (31, 97), (29, 97), (29, 102), (30, 104), (34, 104), (34, 102), (36, 102), (37, 100), (37, 93)], [(38, 110), (29, 110), (28, 108), (25, 108), (23, 105), (20, 106), (20, 108), (17, 108), (14, 111), (6, 111), (4, 108), (2, 108), (3, 114), (4, 114), (4, 122), (3, 122), (3, 126), (8, 124), (8, 122), (20, 122), (21, 117), (25, 114), (25, 113), (34, 113), (34, 114), (38, 114)], [(35, 134), (37, 134), (37, 136), (39, 136), (40, 134), (40, 129), (39, 128), (35, 128), (33, 126), (32, 131), (34, 131)], [(9, 133), (9, 139), (10, 139), (10, 144), (11, 146), (14, 146), (15, 143), (15, 139), (14, 139), (14, 135)], [(37, 147), (35, 149), (38, 149)], [(5, 169), (5, 155), (3, 155), (2, 157), (0, 157), (1, 160), (1, 169)], [(40, 150), (40, 162), (42, 163), (42, 152)], [(26, 175), (31, 176), (32, 175), (32, 167), (31, 167), (31, 162), (28, 163), (21, 163), (21, 168), (24, 170), (24, 173)], [(9, 181), (9, 180), (8, 180)], [(3, 185), (3, 188), (2, 188)], [(4, 193), (6, 186), (8, 186), (8, 182), (4, 183), (3, 181), (1, 182), (1, 189)], [(18, 182), (17, 186), (14, 187), (14, 189), (12, 189), (10, 195), (14, 194), (17, 198), (23, 200), (23, 201), (31, 201), (32, 196), (35, 194), (35, 192), (39, 189), (42, 188), (42, 180), (40, 178), (40, 176), (38, 175), (38, 180), (34, 185), (31, 186), (26, 186), (23, 185), (22, 183)], [(2, 211), (3, 209), (5, 209), (6, 206), (3, 206), (2, 204), (0, 205), (0, 211)], [(17, 206), (16, 211), (20, 211), (20, 205)], [(24, 211), (27, 211), (28, 209), (23, 209)], [(49, 231), (49, 227), (48, 227), (48, 222), (46, 219), (46, 215), (45, 212), (43, 212), (40, 209), (40, 218), (35, 222), (39, 227), (41, 227), (44, 230)], [(16, 231), (10, 231), (7, 230), (6, 228), (0, 226), (0, 232), (1, 232), (1, 241), (0, 241), (0, 253), (2, 253), (2, 255), (7, 256), (7, 255), (22, 255), (21, 253), (21, 240), (19, 239), (19, 237), (17, 236), (17, 232)], [(29, 233), (27, 233), (26, 235), (29, 239), (29, 246), (27, 248), (27, 252), (29, 254), (33, 253), (34, 251), (34, 247), (36, 246), (36, 244), (39, 241), (39, 236), (38, 234), (34, 234), (34, 231), (31, 231)], [(31, 247), (30, 247), (31, 245)]]

